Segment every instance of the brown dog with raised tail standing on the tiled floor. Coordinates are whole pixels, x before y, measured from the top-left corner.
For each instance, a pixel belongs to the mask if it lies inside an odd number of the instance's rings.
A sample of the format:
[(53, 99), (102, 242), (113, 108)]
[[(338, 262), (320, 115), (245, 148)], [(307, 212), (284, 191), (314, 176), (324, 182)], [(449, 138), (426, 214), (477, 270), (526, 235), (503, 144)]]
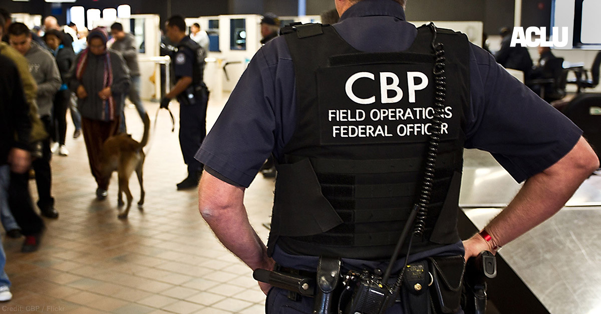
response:
[(142, 167), (144, 166), (144, 151), (142, 148), (148, 143), (150, 133), (150, 118), (148, 114), (142, 119), (144, 121), (144, 135), (138, 143), (132, 139), (130, 134), (120, 133), (109, 137), (102, 146), (102, 169), (105, 178), (110, 178), (113, 171), (117, 171), (119, 178), (119, 198), (117, 205), (123, 206), (123, 193), (127, 198), (127, 207), (117, 217), (126, 219), (129, 214), (129, 208), (132, 207), (132, 192), (129, 190), (129, 178), (133, 171), (138, 175), (140, 183), (140, 201), (139, 210), (144, 205), (144, 185), (142, 184)]

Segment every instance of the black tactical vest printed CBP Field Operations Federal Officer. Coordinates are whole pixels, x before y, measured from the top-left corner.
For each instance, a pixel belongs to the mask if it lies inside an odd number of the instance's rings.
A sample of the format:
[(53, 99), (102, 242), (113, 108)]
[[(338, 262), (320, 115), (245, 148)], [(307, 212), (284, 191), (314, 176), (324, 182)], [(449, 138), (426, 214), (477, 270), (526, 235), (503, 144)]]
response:
[[(456, 243), (469, 106), (469, 43), (437, 29), (447, 97), (424, 236), (412, 253)], [(277, 165), (272, 230), (294, 255), (388, 259), (416, 203), (432, 131), (433, 31), (409, 50), (364, 53), (332, 26), (284, 28), (296, 73), (297, 125)], [(404, 251), (403, 251), (404, 252)]]

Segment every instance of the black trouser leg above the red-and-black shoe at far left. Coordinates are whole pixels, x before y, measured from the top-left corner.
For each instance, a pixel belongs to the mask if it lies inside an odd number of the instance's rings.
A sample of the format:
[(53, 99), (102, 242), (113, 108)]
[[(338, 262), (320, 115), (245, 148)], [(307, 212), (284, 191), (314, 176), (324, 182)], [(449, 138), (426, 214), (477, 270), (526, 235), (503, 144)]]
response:
[(8, 206), (23, 235), (34, 235), (42, 231), (44, 221), (35, 213), (29, 193), (29, 172), (10, 173)]

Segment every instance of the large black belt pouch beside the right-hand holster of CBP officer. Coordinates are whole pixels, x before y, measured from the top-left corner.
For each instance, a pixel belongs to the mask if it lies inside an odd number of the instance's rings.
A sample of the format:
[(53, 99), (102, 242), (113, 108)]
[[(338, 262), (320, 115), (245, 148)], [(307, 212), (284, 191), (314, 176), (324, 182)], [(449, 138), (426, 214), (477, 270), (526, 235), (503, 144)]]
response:
[(465, 259), (461, 255), (433, 256), (428, 261), (433, 278), (430, 295), (436, 313), (457, 313), (461, 309)]

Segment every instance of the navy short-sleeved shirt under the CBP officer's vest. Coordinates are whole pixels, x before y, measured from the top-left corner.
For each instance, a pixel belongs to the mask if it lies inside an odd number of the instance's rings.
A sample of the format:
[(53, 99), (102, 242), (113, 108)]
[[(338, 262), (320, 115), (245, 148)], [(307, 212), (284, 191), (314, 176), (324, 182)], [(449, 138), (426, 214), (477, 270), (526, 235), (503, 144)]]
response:
[[(406, 50), (417, 34), (394, 1), (358, 2), (334, 27), (365, 52)], [(491, 152), (520, 182), (553, 165), (578, 142), (582, 131), (488, 52), (472, 44), (469, 62), (466, 148)], [(295, 110), (294, 67), (285, 38), (278, 37), (252, 58), (196, 159), (222, 180), (248, 187), (269, 154), (281, 160), (294, 133)]]

